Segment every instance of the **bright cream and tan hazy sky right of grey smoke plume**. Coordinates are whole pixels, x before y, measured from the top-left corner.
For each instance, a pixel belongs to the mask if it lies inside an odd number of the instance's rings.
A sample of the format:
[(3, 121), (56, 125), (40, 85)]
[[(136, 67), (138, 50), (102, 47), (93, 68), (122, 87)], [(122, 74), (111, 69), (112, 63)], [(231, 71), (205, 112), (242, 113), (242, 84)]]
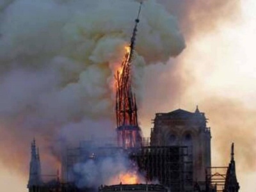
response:
[[(256, 68), (253, 46), (256, 42), (256, 3), (246, 0), (215, 1), (216, 4), (191, 2), (184, 3), (188, 15), (180, 20), (186, 49), (169, 61), (171, 67), (148, 69), (146, 78), (150, 79), (154, 73), (159, 77), (153, 84), (147, 84), (150, 88), (145, 88), (147, 99), (143, 102), (145, 111), (141, 113), (145, 120), (142, 124), (149, 134), (153, 125), (148, 119), (154, 118), (156, 111), (163, 113), (177, 108), (195, 111), (198, 105), (209, 118), (212, 165), (227, 165), (230, 145), (234, 142), (241, 191), (255, 191)], [(157, 86), (163, 81), (163, 86)], [(157, 108), (148, 106), (152, 100), (157, 100)]]

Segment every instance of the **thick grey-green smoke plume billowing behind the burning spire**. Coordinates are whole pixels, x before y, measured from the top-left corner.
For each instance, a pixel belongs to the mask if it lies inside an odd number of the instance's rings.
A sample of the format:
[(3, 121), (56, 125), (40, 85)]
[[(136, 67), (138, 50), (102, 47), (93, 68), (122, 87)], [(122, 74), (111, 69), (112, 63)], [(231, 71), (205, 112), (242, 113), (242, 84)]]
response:
[[(73, 124), (83, 125), (86, 134), (92, 124), (102, 125), (103, 136), (114, 127), (113, 76), (138, 2), (13, 0), (3, 1), (0, 12), (0, 129), (11, 135), (1, 146), (22, 151), (35, 136), (49, 147)], [(140, 20), (133, 68), (138, 97), (143, 67), (184, 49), (177, 22), (156, 1), (143, 4)], [(100, 124), (102, 119), (112, 123)], [(70, 135), (84, 134), (74, 130), (79, 133)]]

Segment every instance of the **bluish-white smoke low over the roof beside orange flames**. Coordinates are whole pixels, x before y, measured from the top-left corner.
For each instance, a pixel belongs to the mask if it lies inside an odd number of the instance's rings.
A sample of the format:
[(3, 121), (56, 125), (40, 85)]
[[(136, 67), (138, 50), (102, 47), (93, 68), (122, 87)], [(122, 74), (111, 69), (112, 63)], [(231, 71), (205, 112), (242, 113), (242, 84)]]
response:
[(129, 176), (134, 177), (134, 180), (145, 183), (145, 177), (138, 172), (136, 166), (132, 168), (131, 166), (131, 161), (124, 154), (104, 157), (100, 161), (90, 159), (86, 163), (78, 163), (74, 166), (76, 184), (79, 188), (97, 188), (101, 184), (113, 185), (120, 182), (131, 184), (122, 180), (124, 179), (122, 175), (125, 173), (131, 173)]

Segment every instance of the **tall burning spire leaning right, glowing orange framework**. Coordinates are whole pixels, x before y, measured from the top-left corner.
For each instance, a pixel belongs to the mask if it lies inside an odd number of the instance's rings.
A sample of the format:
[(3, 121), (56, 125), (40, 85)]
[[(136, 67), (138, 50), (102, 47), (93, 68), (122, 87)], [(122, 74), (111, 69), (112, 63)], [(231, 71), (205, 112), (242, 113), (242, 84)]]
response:
[(141, 5), (132, 32), (129, 47), (126, 47), (122, 68), (116, 74), (116, 131), (118, 145), (125, 149), (141, 146), (140, 127), (136, 98), (131, 88), (131, 61), (134, 52), (137, 26), (140, 22)]

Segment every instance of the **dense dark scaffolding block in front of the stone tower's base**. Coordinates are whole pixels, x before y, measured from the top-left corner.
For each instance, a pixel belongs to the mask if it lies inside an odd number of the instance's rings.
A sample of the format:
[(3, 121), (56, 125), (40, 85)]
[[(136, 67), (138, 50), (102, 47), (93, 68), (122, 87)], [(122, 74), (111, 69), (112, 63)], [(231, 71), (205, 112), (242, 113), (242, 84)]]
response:
[(158, 181), (168, 187), (172, 192), (192, 191), (192, 170), (186, 170), (185, 161), (188, 156), (188, 147), (180, 146), (150, 146), (141, 147), (131, 154), (139, 167), (140, 172), (145, 172), (148, 182)]

